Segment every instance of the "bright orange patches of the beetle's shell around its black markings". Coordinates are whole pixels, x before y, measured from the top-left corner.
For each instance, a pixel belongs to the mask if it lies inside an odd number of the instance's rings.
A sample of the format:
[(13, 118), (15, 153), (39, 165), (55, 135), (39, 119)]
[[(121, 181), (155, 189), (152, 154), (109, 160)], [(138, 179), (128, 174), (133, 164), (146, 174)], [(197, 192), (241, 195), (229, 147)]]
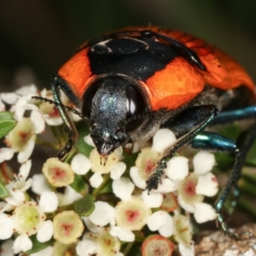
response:
[[(248, 90), (251, 90), (252, 96), (255, 96), (253, 80), (240, 64), (222, 50), (187, 33), (158, 27), (132, 27), (119, 32), (131, 31), (129, 37), (132, 38), (135, 30), (137, 32), (150, 30), (176, 39), (194, 50), (207, 69), (203, 71), (179, 56), (148, 79), (138, 80), (147, 93), (152, 110), (179, 108), (198, 96), (206, 84), (222, 90), (231, 90), (245, 85)], [(166, 43), (163, 42), (163, 44)], [(83, 44), (78, 53), (73, 55), (58, 72), (79, 99), (96, 79), (96, 74), (90, 68), (89, 49), (90, 45)]]

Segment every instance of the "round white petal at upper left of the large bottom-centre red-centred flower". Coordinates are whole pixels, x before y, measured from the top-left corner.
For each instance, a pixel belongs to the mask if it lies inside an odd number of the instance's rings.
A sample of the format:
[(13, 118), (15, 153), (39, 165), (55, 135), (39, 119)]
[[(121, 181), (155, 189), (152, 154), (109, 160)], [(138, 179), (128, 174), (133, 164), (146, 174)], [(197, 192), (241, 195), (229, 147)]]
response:
[(119, 197), (122, 201), (131, 198), (131, 193), (134, 189), (134, 183), (131, 183), (127, 177), (121, 177), (120, 179), (113, 180), (112, 188), (113, 194)]

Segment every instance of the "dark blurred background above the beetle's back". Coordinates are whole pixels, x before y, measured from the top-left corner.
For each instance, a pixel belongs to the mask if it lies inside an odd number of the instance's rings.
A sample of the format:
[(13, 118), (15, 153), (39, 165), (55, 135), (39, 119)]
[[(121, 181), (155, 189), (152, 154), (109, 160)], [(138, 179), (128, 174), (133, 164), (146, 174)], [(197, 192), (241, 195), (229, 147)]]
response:
[(1, 1), (0, 91), (32, 82), (49, 86), (51, 75), (84, 41), (148, 24), (206, 39), (256, 80), (255, 9), (254, 0)]

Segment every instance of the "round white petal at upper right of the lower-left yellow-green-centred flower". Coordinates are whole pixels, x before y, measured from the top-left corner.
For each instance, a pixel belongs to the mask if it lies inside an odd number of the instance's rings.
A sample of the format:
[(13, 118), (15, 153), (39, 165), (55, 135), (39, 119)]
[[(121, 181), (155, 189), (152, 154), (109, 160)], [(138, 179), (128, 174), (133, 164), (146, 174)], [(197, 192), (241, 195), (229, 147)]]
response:
[(40, 197), (39, 206), (44, 212), (54, 212), (58, 207), (58, 197), (55, 192), (44, 191)]

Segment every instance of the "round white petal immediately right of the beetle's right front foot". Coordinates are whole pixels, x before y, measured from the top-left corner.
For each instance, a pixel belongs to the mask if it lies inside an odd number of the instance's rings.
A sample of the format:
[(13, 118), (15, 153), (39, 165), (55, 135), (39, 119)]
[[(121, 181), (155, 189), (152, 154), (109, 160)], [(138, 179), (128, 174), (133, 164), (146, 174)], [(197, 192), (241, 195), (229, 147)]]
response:
[(189, 160), (183, 156), (172, 157), (167, 162), (166, 175), (175, 181), (183, 180), (189, 173)]

